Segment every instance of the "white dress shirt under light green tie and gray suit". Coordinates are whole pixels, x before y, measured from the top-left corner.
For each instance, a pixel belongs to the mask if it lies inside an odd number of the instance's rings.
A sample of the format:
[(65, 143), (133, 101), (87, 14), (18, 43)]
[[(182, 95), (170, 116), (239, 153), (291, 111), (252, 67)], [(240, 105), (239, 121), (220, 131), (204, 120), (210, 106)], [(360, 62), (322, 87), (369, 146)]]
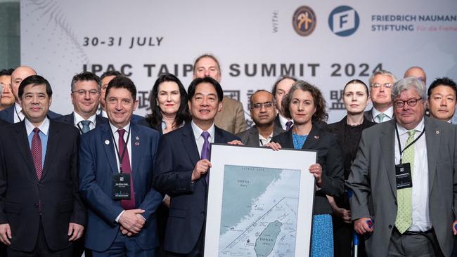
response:
[[(408, 139), (408, 130), (397, 124), (398, 133), (401, 142), (401, 150), (406, 146)], [(414, 139), (420, 136), (424, 130), (424, 119), (416, 126)], [(427, 231), (432, 228), (430, 214), (428, 211), (428, 161), (427, 161), (427, 144), (425, 133), (414, 143), (414, 166), (413, 166), (413, 190), (412, 190), (412, 223), (408, 231)], [(395, 164), (400, 164), (400, 152), (395, 135)]]

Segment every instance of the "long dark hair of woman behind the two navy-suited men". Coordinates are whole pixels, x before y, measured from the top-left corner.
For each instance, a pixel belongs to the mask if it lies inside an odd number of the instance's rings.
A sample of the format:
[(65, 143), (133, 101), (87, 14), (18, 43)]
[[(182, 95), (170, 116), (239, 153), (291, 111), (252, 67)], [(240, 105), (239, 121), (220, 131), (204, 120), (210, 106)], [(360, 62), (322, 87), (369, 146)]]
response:
[(179, 94), (181, 95), (181, 103), (179, 104), (178, 112), (176, 112), (176, 117), (174, 118), (174, 126), (179, 128), (179, 126), (183, 125), (191, 121), (191, 113), (189, 112), (189, 107), (187, 105), (187, 92), (186, 88), (184, 88), (181, 81), (174, 76), (173, 74), (165, 73), (160, 75), (154, 83), (153, 90), (150, 91), (149, 94), (149, 106), (151, 110), (151, 114), (146, 116), (146, 121), (152, 126), (154, 129), (158, 129), (162, 126), (162, 112), (160, 111), (160, 107), (157, 104), (157, 95), (159, 94), (159, 85), (165, 81), (172, 81), (178, 84)]

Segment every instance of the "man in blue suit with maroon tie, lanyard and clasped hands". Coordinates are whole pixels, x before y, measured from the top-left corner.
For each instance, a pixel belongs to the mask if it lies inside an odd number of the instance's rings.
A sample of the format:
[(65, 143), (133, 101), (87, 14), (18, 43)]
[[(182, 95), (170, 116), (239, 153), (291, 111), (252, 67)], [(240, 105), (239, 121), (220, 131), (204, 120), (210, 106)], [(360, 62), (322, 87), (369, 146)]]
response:
[(112, 79), (109, 122), (81, 136), (79, 188), (89, 205), (86, 248), (95, 257), (150, 257), (158, 245), (155, 210), (163, 196), (152, 180), (159, 133), (131, 121), (135, 99), (129, 78)]

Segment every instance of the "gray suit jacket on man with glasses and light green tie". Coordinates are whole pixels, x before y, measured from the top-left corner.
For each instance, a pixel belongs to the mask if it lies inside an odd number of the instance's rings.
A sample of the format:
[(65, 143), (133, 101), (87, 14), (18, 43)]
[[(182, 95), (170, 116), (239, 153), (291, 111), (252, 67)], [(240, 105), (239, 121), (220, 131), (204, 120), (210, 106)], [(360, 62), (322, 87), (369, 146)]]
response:
[[(456, 220), (457, 206), (457, 126), (429, 117), (424, 119), (430, 221), (444, 256), (451, 256), (451, 224)], [(354, 192), (350, 199), (352, 219), (374, 220), (373, 235), (366, 240), (368, 256), (387, 256), (397, 216), (394, 124), (395, 120), (386, 121), (362, 132), (359, 152), (347, 180), (347, 186)], [(373, 213), (368, 211), (368, 197), (373, 200)]]

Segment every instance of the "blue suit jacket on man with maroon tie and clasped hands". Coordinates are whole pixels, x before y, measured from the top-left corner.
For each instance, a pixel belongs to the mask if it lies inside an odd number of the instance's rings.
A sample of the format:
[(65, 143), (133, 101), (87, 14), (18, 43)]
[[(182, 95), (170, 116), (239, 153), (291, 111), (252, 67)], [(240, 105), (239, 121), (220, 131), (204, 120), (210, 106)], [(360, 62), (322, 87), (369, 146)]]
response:
[[(134, 122), (130, 124), (129, 154), (135, 189), (135, 208), (146, 211), (142, 214), (146, 218), (146, 225), (134, 238), (141, 249), (153, 249), (158, 244), (155, 209), (163, 198), (152, 187), (153, 162), (157, 154), (159, 133)], [(83, 134), (80, 144), (79, 189), (89, 206), (86, 248), (106, 251), (120, 229), (115, 219), (122, 211), (120, 201), (112, 199), (112, 174), (119, 170), (109, 122)]]

